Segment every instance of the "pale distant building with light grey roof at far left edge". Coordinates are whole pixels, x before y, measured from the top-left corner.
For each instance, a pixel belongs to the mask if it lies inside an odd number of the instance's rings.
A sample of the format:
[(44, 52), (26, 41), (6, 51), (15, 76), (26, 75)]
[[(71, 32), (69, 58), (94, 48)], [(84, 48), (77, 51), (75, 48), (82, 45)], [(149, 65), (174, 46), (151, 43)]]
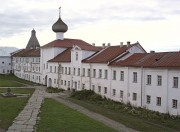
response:
[(0, 74), (12, 73), (11, 52), (16, 50), (15, 47), (0, 47)]

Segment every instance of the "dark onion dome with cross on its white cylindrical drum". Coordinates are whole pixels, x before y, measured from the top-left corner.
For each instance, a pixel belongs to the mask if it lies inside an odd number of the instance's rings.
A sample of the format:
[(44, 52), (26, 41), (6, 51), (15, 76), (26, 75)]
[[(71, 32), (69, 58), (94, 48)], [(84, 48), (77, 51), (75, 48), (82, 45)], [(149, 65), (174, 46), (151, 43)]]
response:
[(53, 24), (52, 30), (56, 33), (57, 40), (64, 39), (64, 33), (68, 30), (68, 26), (61, 19), (61, 7), (59, 8), (59, 19)]

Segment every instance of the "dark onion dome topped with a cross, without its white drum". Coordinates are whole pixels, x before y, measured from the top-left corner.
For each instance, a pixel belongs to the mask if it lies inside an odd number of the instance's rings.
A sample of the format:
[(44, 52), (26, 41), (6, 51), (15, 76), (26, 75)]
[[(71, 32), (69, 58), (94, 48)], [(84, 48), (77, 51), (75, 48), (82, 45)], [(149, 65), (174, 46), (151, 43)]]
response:
[(62, 21), (60, 11), (61, 11), (61, 8), (59, 8), (59, 19), (57, 20), (57, 22), (53, 24), (52, 30), (56, 33), (57, 32), (65, 33), (68, 30), (68, 26), (66, 25), (66, 23)]

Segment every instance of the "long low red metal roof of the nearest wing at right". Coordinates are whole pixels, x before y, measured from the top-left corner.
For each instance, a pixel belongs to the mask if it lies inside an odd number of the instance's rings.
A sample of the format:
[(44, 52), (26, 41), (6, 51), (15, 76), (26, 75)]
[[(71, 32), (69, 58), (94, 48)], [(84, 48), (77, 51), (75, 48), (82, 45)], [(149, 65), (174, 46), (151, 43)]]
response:
[(110, 66), (180, 68), (180, 52), (136, 53)]

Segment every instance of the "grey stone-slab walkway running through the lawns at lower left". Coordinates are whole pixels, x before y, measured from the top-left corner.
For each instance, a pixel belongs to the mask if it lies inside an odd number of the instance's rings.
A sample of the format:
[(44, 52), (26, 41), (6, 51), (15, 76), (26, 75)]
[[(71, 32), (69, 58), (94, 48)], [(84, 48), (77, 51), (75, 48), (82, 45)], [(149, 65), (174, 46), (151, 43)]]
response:
[(33, 132), (38, 120), (41, 104), (45, 94), (45, 87), (39, 86), (29, 99), (27, 105), (15, 118), (7, 132)]

